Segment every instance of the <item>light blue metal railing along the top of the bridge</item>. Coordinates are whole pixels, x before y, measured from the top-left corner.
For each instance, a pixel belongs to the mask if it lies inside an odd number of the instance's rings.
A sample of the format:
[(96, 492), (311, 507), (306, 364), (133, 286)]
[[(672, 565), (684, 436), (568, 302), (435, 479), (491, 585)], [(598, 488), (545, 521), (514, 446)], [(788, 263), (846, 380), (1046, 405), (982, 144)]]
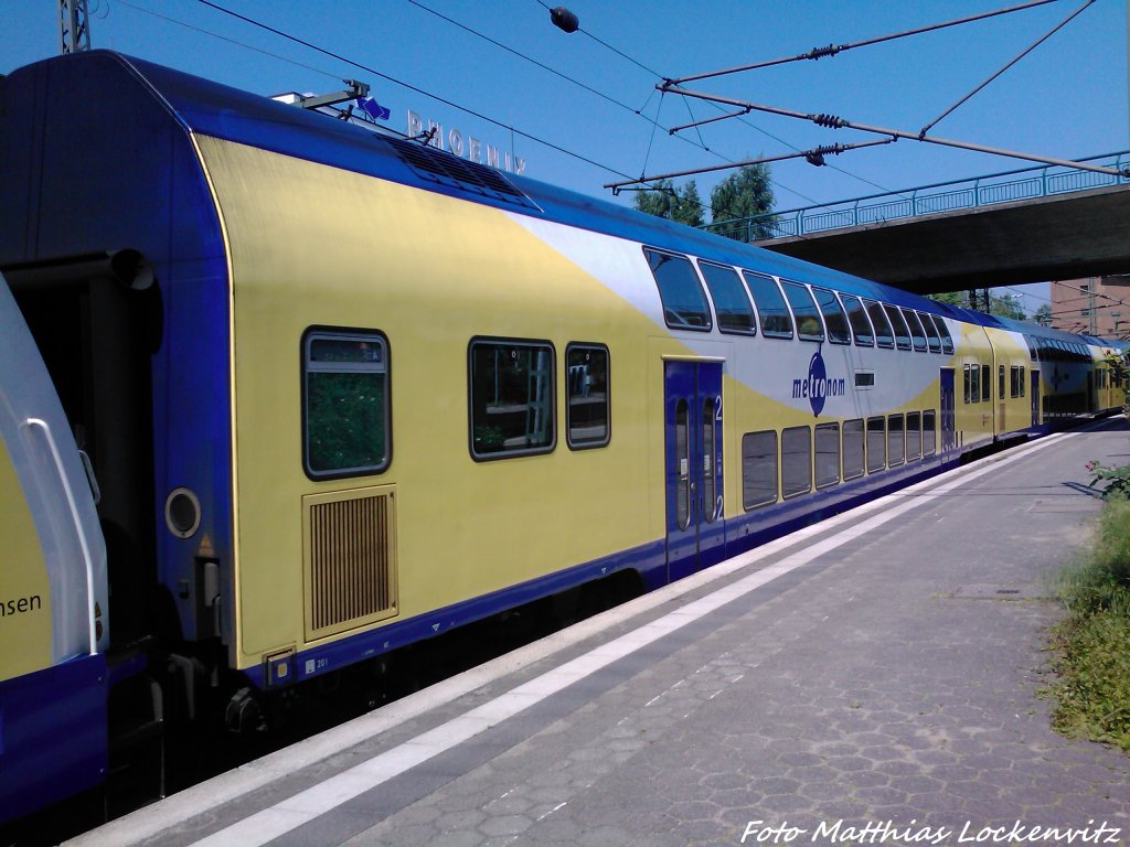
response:
[[(1130, 150), (1092, 156), (1083, 161), (1107, 165), (1114, 169), (1124, 171), (1130, 165)], [(913, 218), (919, 215), (933, 215), (955, 209), (975, 209), (994, 203), (1031, 200), (1120, 183), (1130, 183), (1130, 178), (1049, 165), (1019, 171), (1002, 171), (998, 174), (971, 180), (933, 183), (884, 194), (868, 194), (853, 200), (842, 200), (824, 206), (806, 206), (751, 218), (714, 221), (704, 225), (703, 229), (744, 242), (756, 242), (824, 233), (829, 229), (843, 229), (864, 224), (880, 224), (886, 220)]]

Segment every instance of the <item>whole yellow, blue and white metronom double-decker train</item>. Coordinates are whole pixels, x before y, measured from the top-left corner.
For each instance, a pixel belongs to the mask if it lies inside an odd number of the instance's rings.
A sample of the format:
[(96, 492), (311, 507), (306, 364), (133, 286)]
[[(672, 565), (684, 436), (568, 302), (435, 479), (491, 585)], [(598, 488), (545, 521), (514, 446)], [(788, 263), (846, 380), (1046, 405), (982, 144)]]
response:
[(0, 195), (5, 346), (41, 363), (26, 408), (0, 372), (3, 819), (169, 723), (258, 727), (1121, 403), (1097, 339), (108, 52), (0, 82)]

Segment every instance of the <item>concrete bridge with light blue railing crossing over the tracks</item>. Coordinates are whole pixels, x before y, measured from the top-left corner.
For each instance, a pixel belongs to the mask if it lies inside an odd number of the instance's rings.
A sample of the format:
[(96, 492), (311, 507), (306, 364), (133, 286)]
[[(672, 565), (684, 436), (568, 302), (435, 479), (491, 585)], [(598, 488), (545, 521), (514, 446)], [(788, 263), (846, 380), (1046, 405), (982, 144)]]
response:
[(1130, 177), (1028, 168), (707, 228), (918, 294), (1107, 276), (1130, 271)]

